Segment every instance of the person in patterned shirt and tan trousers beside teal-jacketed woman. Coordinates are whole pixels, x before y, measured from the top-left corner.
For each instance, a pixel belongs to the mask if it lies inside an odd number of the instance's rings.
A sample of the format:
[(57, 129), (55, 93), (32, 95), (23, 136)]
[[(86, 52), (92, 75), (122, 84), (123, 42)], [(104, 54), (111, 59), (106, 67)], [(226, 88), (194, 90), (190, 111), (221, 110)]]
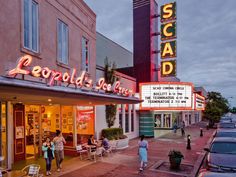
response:
[(62, 161), (64, 159), (64, 144), (66, 144), (65, 138), (62, 136), (60, 130), (56, 130), (56, 137), (53, 139), (55, 145), (55, 157), (57, 164), (57, 171), (62, 169)]

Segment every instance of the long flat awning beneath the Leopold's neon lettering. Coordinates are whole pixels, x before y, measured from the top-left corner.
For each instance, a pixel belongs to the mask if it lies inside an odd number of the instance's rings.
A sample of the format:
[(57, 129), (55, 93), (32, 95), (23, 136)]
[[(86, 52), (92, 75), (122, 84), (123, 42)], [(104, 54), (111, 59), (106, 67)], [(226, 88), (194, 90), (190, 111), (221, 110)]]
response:
[(94, 92), (64, 86), (47, 86), (44, 83), (0, 76), (0, 100), (24, 104), (107, 105), (136, 104), (136, 97)]

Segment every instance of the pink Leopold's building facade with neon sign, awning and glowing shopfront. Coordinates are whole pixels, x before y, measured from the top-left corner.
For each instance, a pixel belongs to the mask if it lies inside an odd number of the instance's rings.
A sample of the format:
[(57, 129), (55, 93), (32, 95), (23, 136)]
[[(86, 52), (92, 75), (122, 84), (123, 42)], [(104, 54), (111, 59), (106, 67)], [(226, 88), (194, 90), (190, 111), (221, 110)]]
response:
[[(136, 103), (96, 80), (96, 15), (80, 0), (1, 1), (1, 166), (38, 158), (57, 129), (66, 154), (95, 134), (95, 106)], [(109, 92), (109, 94), (107, 93)]]

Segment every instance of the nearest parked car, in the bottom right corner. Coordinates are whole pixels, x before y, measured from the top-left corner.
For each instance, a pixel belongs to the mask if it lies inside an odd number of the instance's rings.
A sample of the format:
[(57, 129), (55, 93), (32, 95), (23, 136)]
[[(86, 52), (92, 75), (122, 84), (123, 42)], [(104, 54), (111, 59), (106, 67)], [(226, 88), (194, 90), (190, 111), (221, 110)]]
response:
[[(236, 138), (216, 137), (208, 152), (206, 168), (213, 172), (236, 172)], [(235, 173), (236, 176), (236, 173)]]

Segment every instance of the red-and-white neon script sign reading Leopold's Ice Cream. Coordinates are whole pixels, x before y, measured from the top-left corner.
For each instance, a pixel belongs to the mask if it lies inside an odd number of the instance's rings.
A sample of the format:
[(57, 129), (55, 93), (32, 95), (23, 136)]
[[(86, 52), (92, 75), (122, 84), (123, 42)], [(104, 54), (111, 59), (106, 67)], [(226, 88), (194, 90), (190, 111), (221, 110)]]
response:
[[(71, 74), (68, 72), (60, 72), (51, 70), (48, 67), (34, 66), (30, 67), (32, 63), (32, 57), (30, 55), (25, 55), (18, 60), (17, 66), (8, 72), (9, 76), (16, 77), (17, 74), (31, 75), (33, 77), (41, 77), (48, 79), (48, 85), (53, 86), (55, 81), (61, 81), (75, 85), (77, 88), (93, 88), (96, 90), (104, 90), (106, 92), (113, 92), (116, 94), (121, 94), (123, 96), (130, 96), (133, 94), (131, 89), (127, 89), (120, 86), (120, 81), (116, 81), (113, 85), (105, 82), (104, 78), (100, 78), (93, 87), (93, 80), (87, 76), (85, 71), (82, 71), (78, 77), (76, 77), (76, 69), (73, 68)], [(29, 69), (30, 68), (30, 69)]]

